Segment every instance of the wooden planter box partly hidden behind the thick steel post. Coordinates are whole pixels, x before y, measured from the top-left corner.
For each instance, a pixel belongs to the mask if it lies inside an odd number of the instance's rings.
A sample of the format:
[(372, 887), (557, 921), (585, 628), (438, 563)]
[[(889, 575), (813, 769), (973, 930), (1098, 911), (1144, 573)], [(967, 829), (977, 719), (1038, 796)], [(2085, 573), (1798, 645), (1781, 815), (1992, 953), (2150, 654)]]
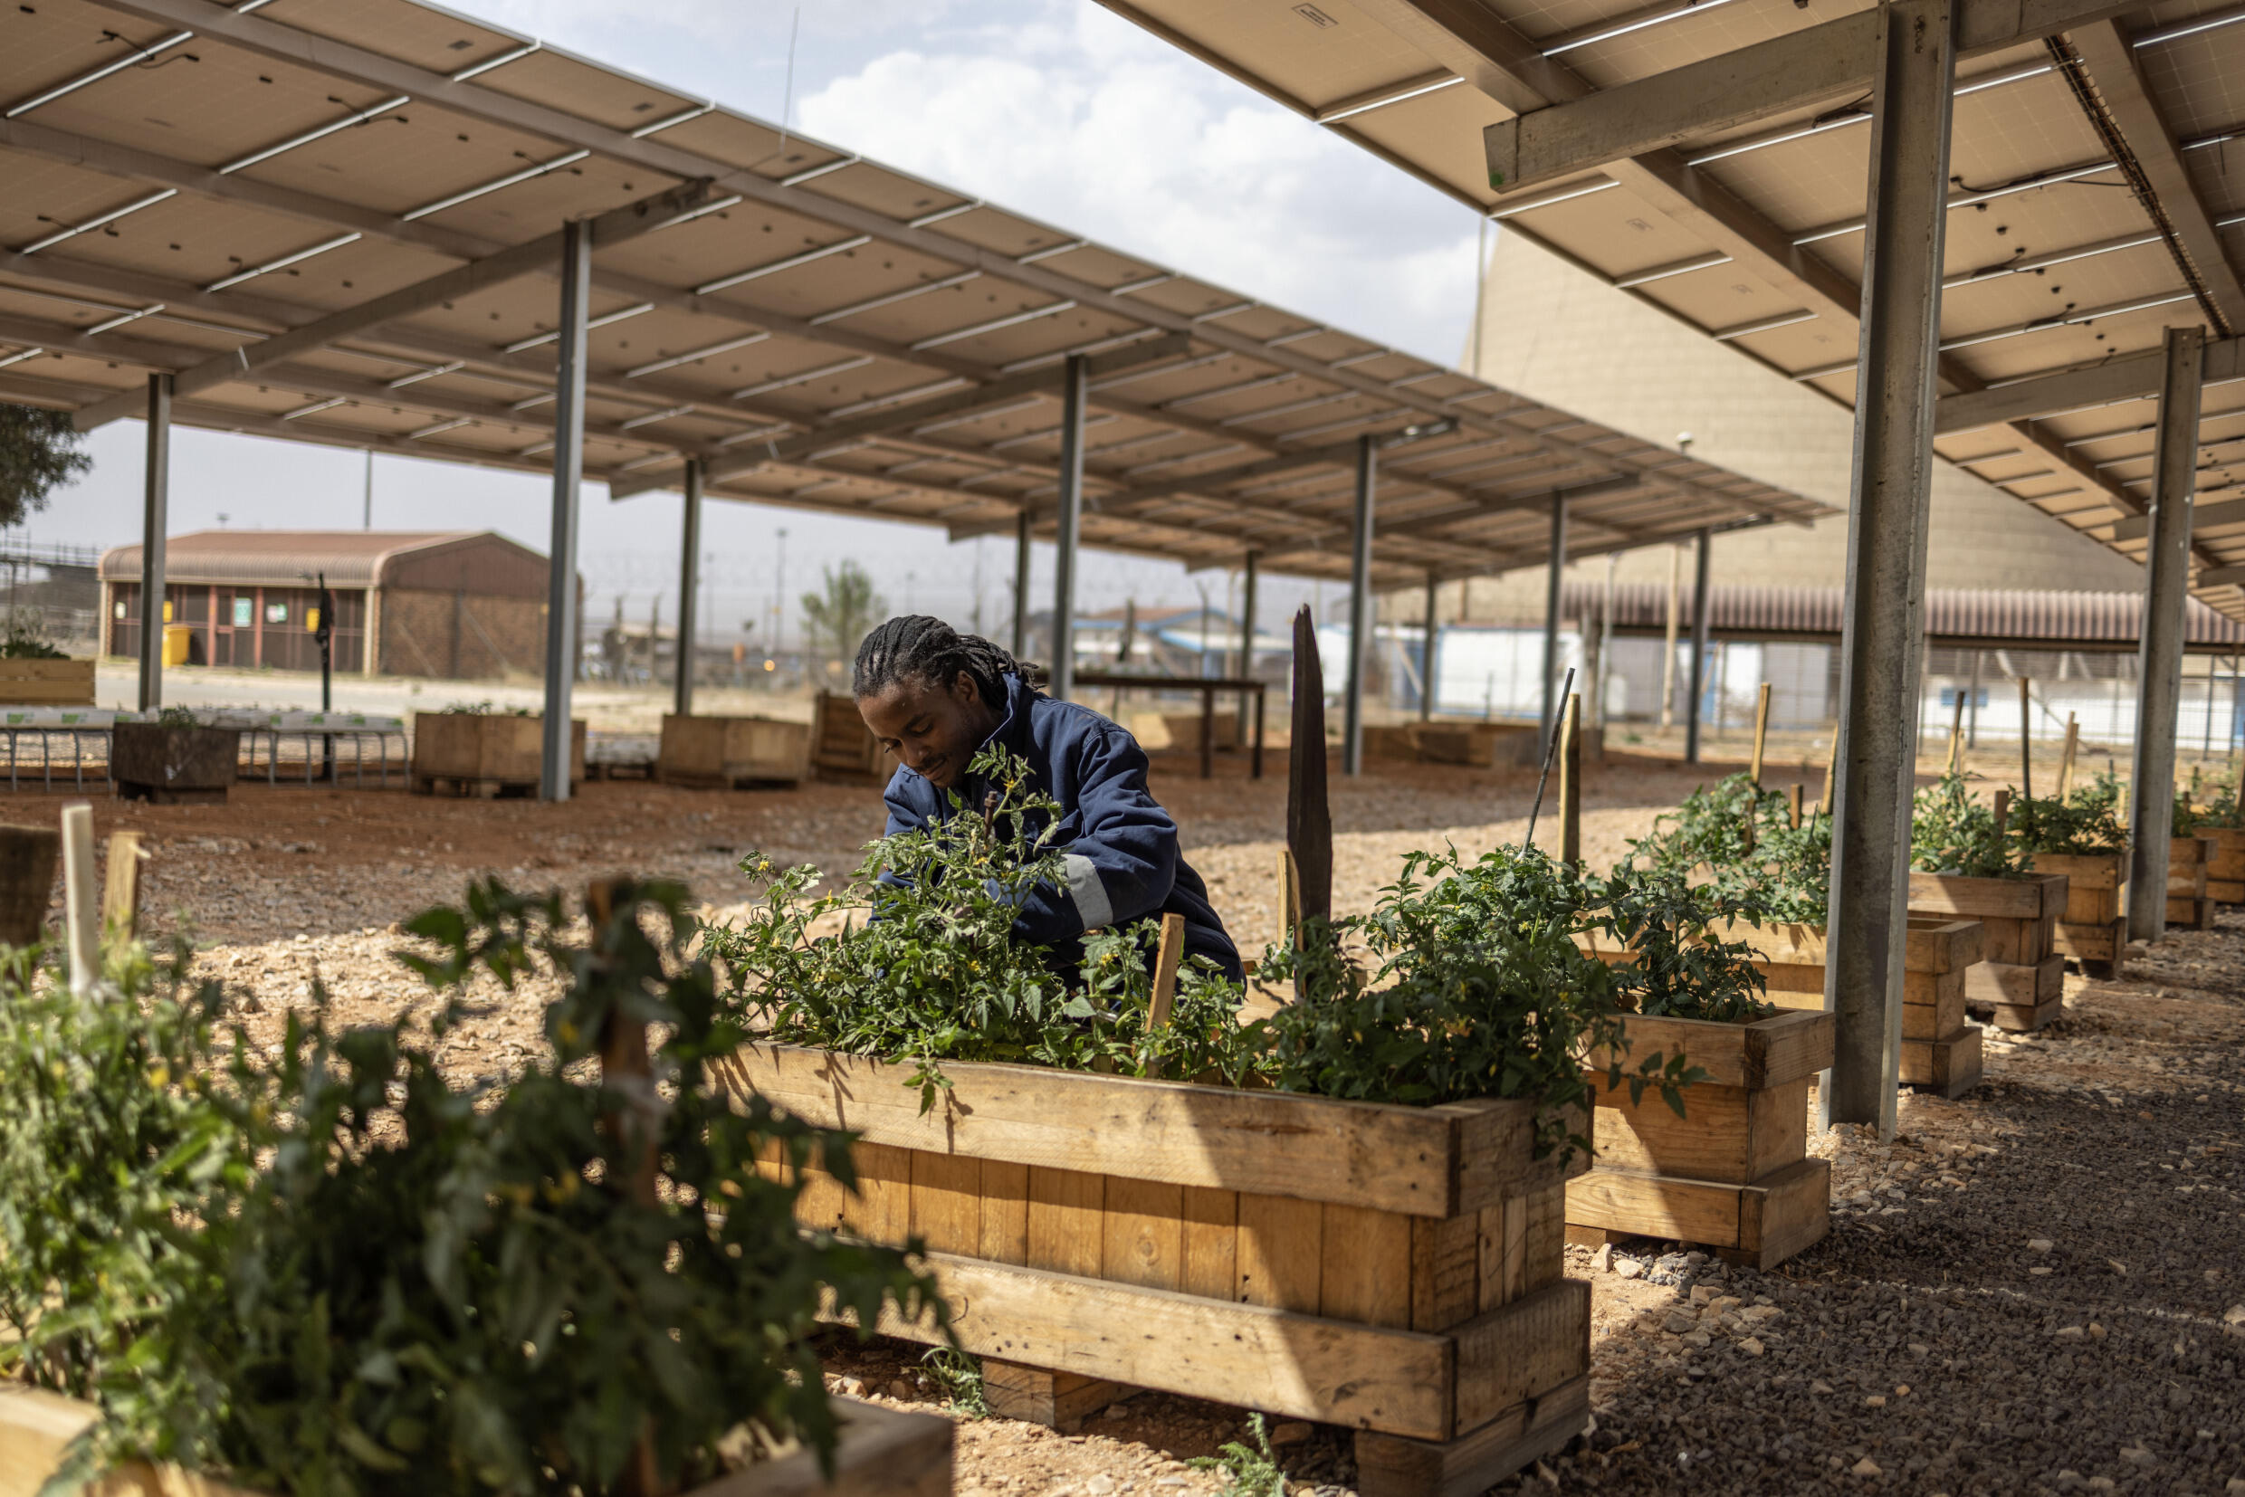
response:
[[(1729, 925), (1744, 940), (1778, 1008), (1823, 1010), (1821, 925)], [(1962, 1098), (1980, 1084), (1980, 1026), (1964, 1017), (1964, 988), (1980, 963), (1980, 922), (1910, 916), (1902, 956), (1902, 1084)], [(1688, 1109), (1688, 1104), (1686, 1104)]]

